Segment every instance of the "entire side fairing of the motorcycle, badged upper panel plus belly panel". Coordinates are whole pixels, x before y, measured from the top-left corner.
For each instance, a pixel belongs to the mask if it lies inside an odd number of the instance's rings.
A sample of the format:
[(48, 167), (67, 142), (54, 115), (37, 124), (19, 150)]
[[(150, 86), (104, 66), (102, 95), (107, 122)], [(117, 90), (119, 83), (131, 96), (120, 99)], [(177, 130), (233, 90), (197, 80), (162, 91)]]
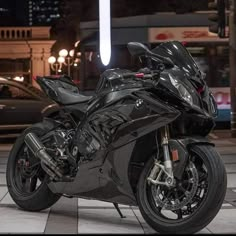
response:
[[(115, 104), (112, 102), (111, 105), (106, 104), (105, 108), (98, 108), (96, 112), (86, 117), (83, 121), (86, 124), (82, 122), (74, 145), (78, 145), (79, 149), (82, 148), (84, 155), (86, 147), (92, 146), (94, 149), (87, 150), (87, 162), (80, 164), (74, 182), (52, 182), (49, 184), (52, 191), (80, 197), (95, 197), (110, 202), (136, 204), (128, 171), (136, 141), (153, 130), (171, 123), (180, 112), (167, 104), (157, 102), (153, 98), (155, 95), (150, 96), (150, 92), (144, 90), (130, 90), (130, 92), (131, 96), (124, 96)], [(138, 99), (143, 100), (142, 108), (136, 106)], [(82, 139), (85, 143), (81, 142)]]

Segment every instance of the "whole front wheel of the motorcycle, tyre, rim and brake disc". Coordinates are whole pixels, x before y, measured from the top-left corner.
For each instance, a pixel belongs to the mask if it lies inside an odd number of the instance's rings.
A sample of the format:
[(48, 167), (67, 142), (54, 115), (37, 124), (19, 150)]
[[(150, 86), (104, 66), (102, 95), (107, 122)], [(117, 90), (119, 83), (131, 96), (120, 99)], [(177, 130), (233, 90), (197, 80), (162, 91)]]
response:
[(174, 187), (147, 181), (151, 158), (137, 189), (137, 202), (146, 222), (159, 233), (192, 234), (206, 227), (224, 201), (227, 177), (224, 164), (212, 146), (192, 146), (189, 162)]

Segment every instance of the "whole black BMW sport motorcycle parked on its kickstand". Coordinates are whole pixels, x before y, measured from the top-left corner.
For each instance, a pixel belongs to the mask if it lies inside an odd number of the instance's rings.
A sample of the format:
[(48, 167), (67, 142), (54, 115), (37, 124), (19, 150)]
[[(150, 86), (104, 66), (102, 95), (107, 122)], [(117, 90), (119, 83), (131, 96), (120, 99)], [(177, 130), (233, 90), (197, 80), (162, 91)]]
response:
[(194, 233), (207, 226), (226, 193), (224, 164), (207, 139), (215, 100), (185, 47), (152, 51), (129, 43), (145, 64), (138, 72), (109, 69), (94, 96), (66, 76), (38, 77), (61, 109), (26, 129), (7, 164), (18, 206), (40, 211), (61, 196), (138, 206), (160, 233)]

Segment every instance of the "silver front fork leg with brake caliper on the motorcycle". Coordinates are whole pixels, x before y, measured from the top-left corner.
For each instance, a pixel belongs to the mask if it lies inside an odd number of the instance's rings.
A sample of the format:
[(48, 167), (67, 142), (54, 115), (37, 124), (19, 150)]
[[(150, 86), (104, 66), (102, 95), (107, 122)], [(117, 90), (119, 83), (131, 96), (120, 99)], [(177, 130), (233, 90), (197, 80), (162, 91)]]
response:
[[(154, 185), (165, 185), (167, 187), (175, 186), (175, 179), (173, 175), (173, 165), (169, 151), (169, 127), (165, 126), (161, 129), (161, 141), (164, 155), (164, 165), (160, 164), (160, 161), (155, 159), (154, 167), (151, 170), (149, 177), (147, 178), (148, 182)], [(165, 175), (163, 179), (162, 176)], [(162, 179), (162, 180), (161, 180)]]

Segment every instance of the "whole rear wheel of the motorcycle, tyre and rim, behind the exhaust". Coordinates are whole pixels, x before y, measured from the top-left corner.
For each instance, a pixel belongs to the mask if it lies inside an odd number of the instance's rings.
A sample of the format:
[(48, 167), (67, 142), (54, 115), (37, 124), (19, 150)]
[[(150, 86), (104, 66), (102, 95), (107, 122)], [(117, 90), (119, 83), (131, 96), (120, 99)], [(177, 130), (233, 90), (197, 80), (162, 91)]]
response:
[[(28, 211), (41, 211), (52, 206), (60, 198), (48, 188), (48, 175), (24, 142), (29, 132), (38, 137), (47, 133), (43, 123), (33, 125), (16, 140), (7, 163), (7, 186), (15, 203)], [(47, 145), (47, 144), (45, 144)]]

